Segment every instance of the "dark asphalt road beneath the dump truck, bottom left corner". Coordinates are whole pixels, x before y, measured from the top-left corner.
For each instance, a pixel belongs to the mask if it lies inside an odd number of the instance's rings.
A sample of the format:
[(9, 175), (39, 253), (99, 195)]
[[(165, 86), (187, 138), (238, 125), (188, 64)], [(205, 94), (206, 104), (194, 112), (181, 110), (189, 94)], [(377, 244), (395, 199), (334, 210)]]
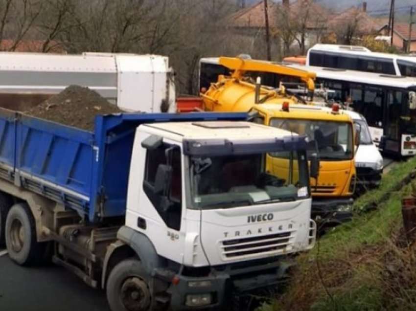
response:
[[(0, 249), (1, 255), (2, 249)], [(26, 268), (0, 257), (0, 310), (109, 311), (103, 291), (57, 266)]]

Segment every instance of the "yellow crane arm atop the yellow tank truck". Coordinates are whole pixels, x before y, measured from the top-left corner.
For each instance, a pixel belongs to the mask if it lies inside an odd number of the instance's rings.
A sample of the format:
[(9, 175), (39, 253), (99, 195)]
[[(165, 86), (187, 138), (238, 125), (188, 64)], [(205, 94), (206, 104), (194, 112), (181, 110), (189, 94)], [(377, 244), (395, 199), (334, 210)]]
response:
[(314, 72), (273, 64), (266, 61), (241, 59), (235, 57), (220, 57), (219, 63), (224, 67), (234, 70), (231, 77), (236, 79), (242, 78), (245, 71), (264, 71), (298, 77), (300, 80), (306, 83), (309, 91), (313, 92), (315, 89), (316, 74)]

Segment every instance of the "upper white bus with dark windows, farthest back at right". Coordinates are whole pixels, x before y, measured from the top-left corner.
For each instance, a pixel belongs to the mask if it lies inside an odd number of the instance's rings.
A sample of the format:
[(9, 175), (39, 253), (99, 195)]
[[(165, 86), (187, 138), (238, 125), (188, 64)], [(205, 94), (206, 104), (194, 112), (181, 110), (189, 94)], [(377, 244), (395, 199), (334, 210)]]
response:
[(416, 77), (416, 57), (376, 53), (356, 45), (315, 44), (308, 50), (306, 66)]

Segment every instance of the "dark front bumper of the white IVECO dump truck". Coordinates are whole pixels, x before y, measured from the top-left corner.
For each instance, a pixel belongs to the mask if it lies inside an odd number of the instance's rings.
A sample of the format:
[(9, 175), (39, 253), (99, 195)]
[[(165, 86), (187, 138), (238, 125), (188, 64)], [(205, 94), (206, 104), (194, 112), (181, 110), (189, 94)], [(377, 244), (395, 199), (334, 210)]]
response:
[[(170, 308), (173, 311), (227, 308), (234, 296), (242, 296), (256, 289), (276, 287), (290, 266), (292, 264), (275, 262), (262, 266), (254, 264), (253, 267), (247, 262), (245, 268), (233, 269), (228, 266), (224, 270), (212, 269), (210, 275), (204, 277), (177, 275), (179, 282), (168, 289)], [(210, 297), (206, 300), (207, 304), (192, 305), (192, 298), (208, 297), (207, 295)]]

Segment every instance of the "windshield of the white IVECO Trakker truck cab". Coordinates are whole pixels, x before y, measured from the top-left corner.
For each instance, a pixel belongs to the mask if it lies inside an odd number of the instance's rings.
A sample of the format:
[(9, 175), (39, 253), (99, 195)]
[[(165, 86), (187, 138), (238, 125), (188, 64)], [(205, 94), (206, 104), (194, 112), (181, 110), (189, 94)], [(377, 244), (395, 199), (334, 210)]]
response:
[[(269, 157), (267, 154), (191, 157), (193, 206), (218, 209), (308, 198), (306, 153), (275, 152), (273, 163)], [(269, 170), (272, 164), (273, 171)]]

